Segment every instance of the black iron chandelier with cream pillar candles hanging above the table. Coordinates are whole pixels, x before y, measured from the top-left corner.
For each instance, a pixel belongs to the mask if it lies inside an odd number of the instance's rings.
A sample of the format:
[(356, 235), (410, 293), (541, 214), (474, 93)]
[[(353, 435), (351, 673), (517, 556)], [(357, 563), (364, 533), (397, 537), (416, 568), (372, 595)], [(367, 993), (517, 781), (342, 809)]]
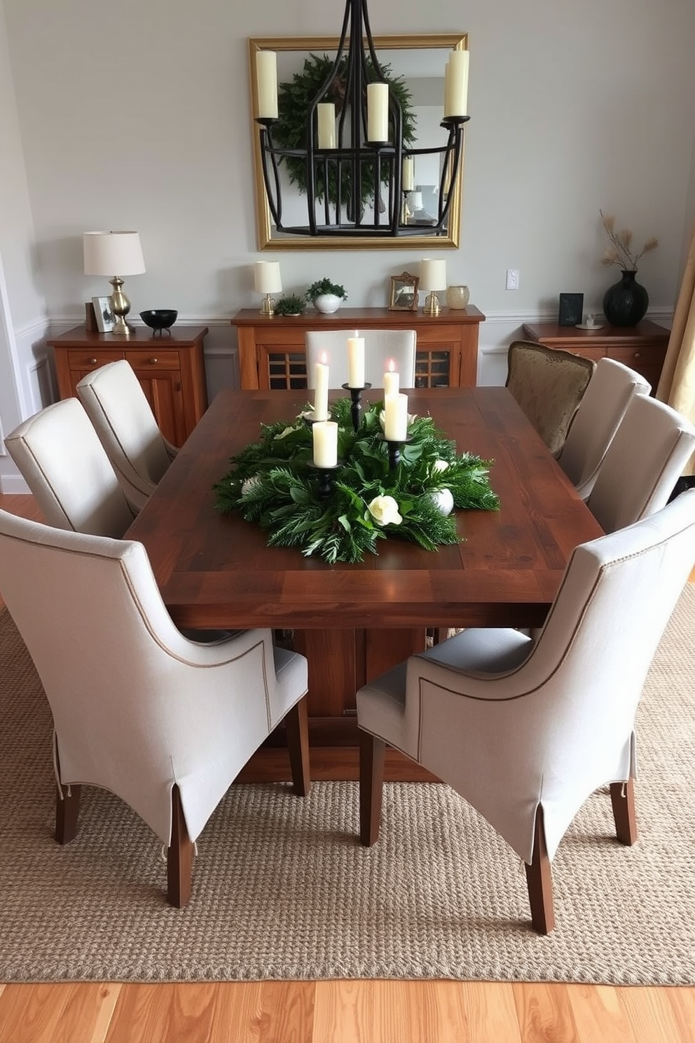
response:
[[(468, 51), (456, 48), (449, 53), (440, 124), (446, 140), (431, 148), (412, 147), (404, 141), (402, 106), (377, 58), (366, 0), (346, 0), (336, 58), (302, 117), (302, 140), (296, 146), (278, 143), (273, 51), (257, 52), (256, 82), (263, 179), (277, 232), (377, 238), (447, 234), (453, 187), (461, 176), (464, 124), (470, 118)], [(413, 172), (418, 155), (439, 157), (437, 214), (427, 215), (426, 221), (418, 220), (411, 205), (417, 195)], [(283, 162), (300, 173), (296, 179), (306, 196), (302, 224), (283, 221)]]

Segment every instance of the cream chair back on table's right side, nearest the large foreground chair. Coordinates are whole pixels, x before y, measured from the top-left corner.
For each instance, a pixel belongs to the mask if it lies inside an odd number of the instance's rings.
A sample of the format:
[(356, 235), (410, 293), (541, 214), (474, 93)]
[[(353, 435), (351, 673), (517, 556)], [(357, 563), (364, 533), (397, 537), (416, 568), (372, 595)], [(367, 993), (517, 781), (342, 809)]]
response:
[(695, 448), (695, 427), (647, 395), (629, 403), (601, 464), (587, 506), (604, 532), (660, 510)]

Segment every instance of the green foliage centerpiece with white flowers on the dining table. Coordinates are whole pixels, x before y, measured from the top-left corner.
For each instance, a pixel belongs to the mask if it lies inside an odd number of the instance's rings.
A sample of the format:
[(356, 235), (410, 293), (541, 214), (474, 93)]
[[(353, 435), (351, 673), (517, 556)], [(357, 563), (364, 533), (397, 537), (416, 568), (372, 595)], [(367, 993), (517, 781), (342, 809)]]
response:
[(328, 496), (319, 494), (311, 426), (300, 413), (291, 423), (263, 423), (260, 439), (231, 457), (231, 469), (214, 487), (217, 509), (259, 525), (270, 547), (296, 547), (332, 564), (377, 554), (380, 539), (405, 539), (428, 551), (458, 542), (455, 517), (438, 506), (444, 489), (454, 507), (499, 508), (491, 461), (457, 454), (430, 416), (409, 417), (409, 440), (391, 469), (381, 437), (383, 403), (365, 408), (357, 432), (350, 410), (349, 398), (331, 406), (341, 466)]

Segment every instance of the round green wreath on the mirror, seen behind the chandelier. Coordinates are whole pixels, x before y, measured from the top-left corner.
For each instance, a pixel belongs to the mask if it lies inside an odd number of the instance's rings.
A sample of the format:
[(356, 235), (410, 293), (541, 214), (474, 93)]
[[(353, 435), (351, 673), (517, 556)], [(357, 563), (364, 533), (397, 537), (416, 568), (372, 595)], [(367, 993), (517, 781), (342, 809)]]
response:
[[(376, 76), (374, 75), (374, 66), (369, 58), (367, 59), (366, 65), (366, 79), (367, 82), (369, 82), (376, 79)], [(278, 120), (273, 126), (273, 138), (275, 143), (281, 148), (306, 148), (306, 113), (309, 105), (319, 94), (319, 91), (321, 91), (328, 79), (332, 66), (333, 58), (328, 57), (327, 54), (323, 54), (322, 56), (309, 54), (308, 57), (304, 58), (302, 71), (295, 73), (290, 82), (279, 84), (277, 94)], [(340, 119), (345, 100), (346, 73), (347, 58), (345, 57), (341, 60), (328, 91), (321, 99), (322, 101), (333, 102), (336, 105), (337, 120)], [(411, 106), (411, 92), (402, 76), (394, 76), (392, 74), (390, 66), (382, 66), (381, 73), (389, 83), (391, 91), (393, 91), (401, 108), (403, 145), (413, 145), (415, 142), (416, 118)], [(287, 167), (290, 181), (297, 186), (302, 195), (306, 195), (305, 161), (301, 157), (283, 156), (281, 162), (284, 163)], [(336, 203), (338, 198), (336, 165), (331, 163), (327, 166), (328, 200), (331, 203)], [(381, 175), (382, 184), (388, 185), (391, 179), (391, 163), (389, 161), (382, 161), (381, 169), (383, 171)], [(324, 164), (317, 164), (315, 177), (316, 197), (320, 202), (323, 202), (326, 193)], [(365, 204), (373, 200), (373, 189), (374, 170), (371, 164), (365, 163), (363, 164), (359, 191), (361, 210), (364, 210)], [(353, 219), (353, 215), (350, 213), (353, 198), (352, 176), (351, 172), (346, 169), (346, 166), (344, 166), (341, 174), (341, 198), (348, 200), (348, 216)], [(382, 212), (384, 207), (381, 200), (379, 200), (378, 205), (379, 211)]]

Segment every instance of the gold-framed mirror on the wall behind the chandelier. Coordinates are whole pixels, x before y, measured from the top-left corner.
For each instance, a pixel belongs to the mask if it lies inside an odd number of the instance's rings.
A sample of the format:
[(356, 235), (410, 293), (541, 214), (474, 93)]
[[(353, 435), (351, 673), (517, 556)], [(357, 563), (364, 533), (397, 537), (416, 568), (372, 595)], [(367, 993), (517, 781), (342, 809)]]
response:
[[(277, 55), (278, 84), (292, 80), (301, 71), (304, 60), (312, 55), (336, 57), (338, 37), (263, 37), (249, 40), (249, 75), (251, 88), (251, 137), (253, 147), (253, 169), (256, 210), (256, 235), (259, 250), (316, 250), (316, 249), (446, 249), (456, 248), (461, 236), (462, 181), (464, 173), (465, 143), (461, 165), (453, 184), (449, 187), (449, 201), (446, 227), (436, 234), (428, 234), (427, 227), (435, 222), (430, 215), (437, 212), (440, 185), (440, 170), (433, 165), (437, 156), (416, 156), (414, 191), (407, 193), (408, 209), (405, 221), (417, 226), (403, 228), (389, 238), (351, 235), (349, 231), (340, 235), (295, 235), (279, 232), (273, 222), (271, 208), (264, 181), (260, 135), (255, 114), (258, 112), (258, 88), (256, 79), (256, 55), (259, 51), (274, 51)], [(388, 35), (375, 37), (374, 45), (379, 62), (389, 66), (395, 76), (403, 77), (411, 94), (409, 102), (416, 119), (416, 146), (431, 148), (440, 129), (443, 116), (444, 68), (448, 53), (452, 50), (467, 50), (467, 33), (442, 33), (432, 35)], [(446, 136), (444, 136), (446, 137)], [(284, 177), (286, 174), (282, 173)], [(306, 198), (300, 190), (283, 185), (283, 194), (290, 205), (306, 210)]]

